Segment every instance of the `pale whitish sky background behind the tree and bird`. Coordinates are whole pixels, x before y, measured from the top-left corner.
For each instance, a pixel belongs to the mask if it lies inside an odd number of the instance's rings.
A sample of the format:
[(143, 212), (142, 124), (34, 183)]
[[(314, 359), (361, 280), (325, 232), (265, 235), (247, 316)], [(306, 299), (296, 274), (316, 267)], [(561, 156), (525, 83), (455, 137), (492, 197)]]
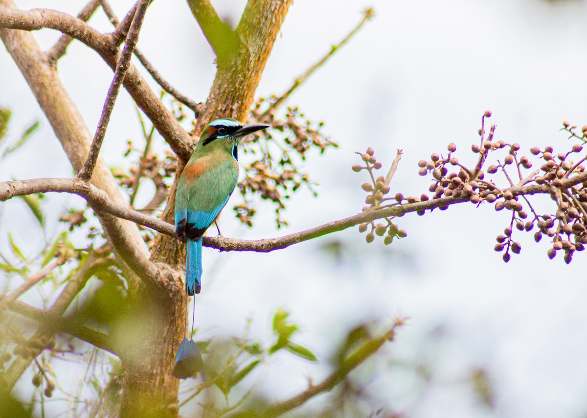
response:
[[(133, 4), (113, 3), (119, 16)], [(213, 3), (233, 22), (245, 4)], [(77, 1), (17, 4), (74, 15), (81, 7)], [(312, 152), (304, 166), (320, 183), (319, 198), (305, 190), (296, 195), (284, 215), (290, 226), (281, 231), (275, 231), (269, 205), (260, 206), (253, 230), (225, 214), (225, 235), (276, 237), (357, 213), (365, 198), (360, 184), (367, 176), (353, 173), (350, 166), (359, 163), (353, 151), (368, 146), (383, 162), (382, 171), (389, 168), (396, 149), (403, 149), (393, 191), (426, 192), (429, 177), (417, 175), (417, 161), (446, 153), (447, 144), (454, 142), (460, 162), (472, 164), (476, 157), (470, 146), (478, 143), (481, 114), (487, 109), (493, 113), (490, 122), (498, 126), (496, 139), (520, 143), (527, 155), (532, 146), (546, 144), (557, 153), (569, 150), (571, 142), (559, 132), (561, 122), (587, 124), (587, 2), (579, 0), (297, 0), (257, 95), (284, 92), (360, 21), (367, 6), (375, 9), (373, 21), (288, 102), (310, 119), (323, 120), (323, 132), (340, 144), (321, 157)], [(101, 11), (90, 24), (110, 31)], [(35, 32), (42, 48), (58, 35)], [(214, 57), (184, 1), (151, 5), (139, 48), (173, 86), (196, 101), (205, 100)], [(80, 43), (70, 46), (59, 69), (93, 132), (112, 71)], [(0, 106), (10, 106), (14, 114), (0, 152), (33, 120), (41, 119), (42, 124), (29, 144), (2, 161), (0, 180), (72, 175), (4, 47)], [(131, 100), (123, 92), (102, 150), (109, 164), (125, 164), (126, 139), (140, 144), (139, 130)], [(163, 144), (160, 137), (157, 141)], [(494, 178), (505, 184), (497, 174)], [(234, 195), (228, 207), (237, 201)], [(58, 217), (79, 202), (53, 194), (45, 205)], [(535, 198), (533, 205), (539, 213), (554, 212), (548, 198)], [(23, 246), (30, 245), (31, 252), (41, 248), (42, 236), (23, 208), (16, 199), (0, 205), (3, 253), (8, 251), (8, 231)], [(398, 219), (408, 236), (389, 247), (380, 239), (367, 245), (364, 234), (353, 228), (271, 254), (204, 250), (197, 339), (241, 335), (245, 318), (251, 316), (250, 336), (269, 344), (272, 315), (283, 306), (302, 328), (295, 341), (326, 363), (329, 350), (356, 323), (375, 319), (382, 330), (392, 318), (409, 316), (396, 341), (359, 371), (371, 396), (368, 412), (383, 407), (386, 413), (406, 417), (585, 417), (586, 255), (576, 253), (571, 265), (562, 254), (549, 261), (548, 240), (535, 244), (532, 234), (516, 231), (522, 252), (504, 264), (493, 247), (495, 236), (509, 222), (510, 213), (496, 213), (492, 205), (461, 204)], [(49, 233), (60, 227), (50, 221)], [(323, 251), (332, 241), (343, 244), (339, 261)], [(417, 377), (411, 365), (419, 364), (430, 368), (430, 382)], [(474, 368), (488, 372), (494, 410), (481, 405), (471, 390), (468, 377)], [(73, 370), (83, 373), (82, 368)], [(259, 390), (286, 399), (306, 387), (308, 376), (319, 382), (326, 373), (322, 366), (284, 353), (247, 379), (261, 380)], [(324, 400), (309, 406), (319, 407)], [(190, 411), (182, 410), (187, 415)]]

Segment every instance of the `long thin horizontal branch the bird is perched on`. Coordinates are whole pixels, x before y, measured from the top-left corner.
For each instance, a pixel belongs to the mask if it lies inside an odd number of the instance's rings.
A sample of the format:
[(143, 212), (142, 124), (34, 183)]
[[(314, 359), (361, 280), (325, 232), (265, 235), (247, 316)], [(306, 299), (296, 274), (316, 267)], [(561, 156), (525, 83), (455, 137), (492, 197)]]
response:
[[(577, 176), (562, 180), (561, 188), (572, 187), (583, 181), (587, 181), (587, 171), (578, 174)], [(513, 195), (550, 193), (549, 186), (545, 184), (532, 184), (531, 186), (517, 184), (516, 186), (504, 189), (503, 191), (510, 191)], [(143, 225), (144, 227), (152, 228), (157, 232), (161, 232), (161, 234), (177, 238), (174, 225), (116, 204), (110, 200), (104, 191), (92, 186), (92, 184), (84, 183), (75, 178), (36, 178), (34, 180), (5, 181), (4, 183), (0, 183), (0, 201), (8, 200), (14, 196), (48, 192), (77, 194), (80, 197), (85, 198), (87, 204), (92, 207), (97, 214), (106, 213), (114, 215), (139, 225)], [(204, 237), (204, 245), (206, 247), (216, 248), (220, 251), (269, 252), (281, 250), (290, 245), (298, 244), (299, 242), (312, 240), (313, 238), (331, 234), (332, 232), (346, 230), (355, 225), (369, 223), (370, 221), (377, 219), (402, 216), (410, 212), (433, 210), (468, 201), (469, 199), (467, 197), (443, 197), (416, 203), (388, 207), (383, 206), (377, 209), (367, 209), (348, 218), (332, 221), (327, 224), (319, 225), (318, 227), (310, 228), (309, 230), (295, 232), (294, 234), (284, 235), (278, 238), (268, 238), (265, 240), (238, 240), (227, 237)]]

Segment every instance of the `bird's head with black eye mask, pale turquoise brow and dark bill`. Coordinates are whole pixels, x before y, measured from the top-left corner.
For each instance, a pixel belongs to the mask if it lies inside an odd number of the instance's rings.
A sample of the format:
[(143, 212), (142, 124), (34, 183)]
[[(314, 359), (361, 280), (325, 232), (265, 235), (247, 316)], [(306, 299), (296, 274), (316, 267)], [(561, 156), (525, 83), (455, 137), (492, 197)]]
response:
[(266, 129), (271, 125), (266, 123), (242, 124), (234, 119), (216, 119), (205, 127), (198, 148), (203, 152), (211, 150), (226, 150), (232, 154), (235, 160), (238, 160), (238, 144), (242, 138)]

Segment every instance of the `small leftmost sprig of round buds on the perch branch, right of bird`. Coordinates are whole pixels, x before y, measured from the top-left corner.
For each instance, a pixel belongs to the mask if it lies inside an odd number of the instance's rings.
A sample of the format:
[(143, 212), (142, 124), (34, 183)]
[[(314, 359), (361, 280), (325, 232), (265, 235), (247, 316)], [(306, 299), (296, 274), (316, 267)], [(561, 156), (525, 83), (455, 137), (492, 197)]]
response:
[[(369, 171), (369, 175), (372, 179), (371, 183), (364, 183), (361, 188), (365, 190), (367, 193), (367, 197), (365, 198), (365, 203), (367, 206), (363, 207), (363, 211), (366, 211), (369, 208), (376, 208), (378, 207), (383, 201), (389, 200), (397, 200), (396, 197), (386, 197), (389, 194), (389, 178), (385, 178), (383, 176), (377, 176), (374, 173), (375, 170), (379, 170), (382, 167), (382, 164), (377, 161), (375, 157), (375, 151), (373, 151), (372, 147), (367, 148), (365, 153), (357, 153), (361, 156), (361, 159), (365, 163), (365, 166), (361, 166), (360, 164), (355, 164), (352, 166), (353, 171), (355, 173), (359, 173), (361, 170)], [(398, 195), (401, 195), (400, 193)], [(397, 203), (401, 203), (403, 200), (397, 200)], [(404, 238), (407, 236), (406, 231), (400, 230), (396, 224), (392, 222), (392, 218), (384, 217), (381, 221), (385, 223), (377, 223), (375, 221), (371, 221), (370, 223), (363, 223), (359, 225), (359, 232), (366, 232), (370, 225), (370, 231), (367, 232), (365, 239), (367, 242), (373, 242), (375, 240), (375, 235), (379, 235), (379, 237), (384, 237), (383, 242), (386, 245), (392, 243), (393, 238)]]

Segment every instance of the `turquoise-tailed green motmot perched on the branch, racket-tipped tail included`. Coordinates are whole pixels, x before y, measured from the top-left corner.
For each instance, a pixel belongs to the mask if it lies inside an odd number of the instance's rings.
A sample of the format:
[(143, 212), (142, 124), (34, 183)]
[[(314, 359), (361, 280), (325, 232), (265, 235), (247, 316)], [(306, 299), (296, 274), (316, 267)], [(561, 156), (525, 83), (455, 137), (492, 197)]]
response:
[[(243, 137), (268, 127), (265, 123), (244, 125), (232, 119), (210, 122), (181, 173), (176, 191), (176, 232), (178, 237), (185, 235), (187, 238), (186, 304), (187, 295), (201, 291), (202, 235), (237, 186), (238, 144)], [(187, 306), (185, 327), (187, 329)], [(181, 379), (195, 376), (201, 361), (195, 342), (184, 336), (173, 375)]]

